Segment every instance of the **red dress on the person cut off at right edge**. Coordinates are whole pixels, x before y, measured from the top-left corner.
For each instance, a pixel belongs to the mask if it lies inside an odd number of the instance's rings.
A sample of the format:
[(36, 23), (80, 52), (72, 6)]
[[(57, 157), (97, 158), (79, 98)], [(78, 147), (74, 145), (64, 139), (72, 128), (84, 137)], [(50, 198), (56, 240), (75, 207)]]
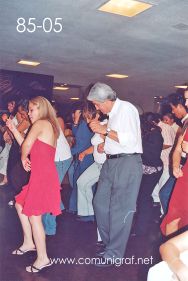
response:
[[(188, 142), (188, 129), (184, 136)], [(188, 160), (182, 168), (183, 177), (178, 178), (171, 195), (168, 213), (161, 223), (161, 231), (165, 235), (166, 225), (180, 218), (178, 229), (188, 225)]]

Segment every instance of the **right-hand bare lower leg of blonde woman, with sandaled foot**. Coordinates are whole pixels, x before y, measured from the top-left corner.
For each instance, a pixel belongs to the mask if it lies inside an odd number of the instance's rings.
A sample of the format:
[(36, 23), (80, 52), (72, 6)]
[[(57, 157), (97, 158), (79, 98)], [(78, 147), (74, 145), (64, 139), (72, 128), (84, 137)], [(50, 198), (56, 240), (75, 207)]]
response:
[[(37, 249), (37, 259), (35, 260), (33, 265), (36, 268), (40, 269), (50, 262), (50, 259), (48, 258), (46, 252), (46, 237), (42, 224), (42, 217), (31, 216), (29, 217), (29, 221), (31, 223), (33, 238)], [(26, 270), (31, 272), (31, 267), (28, 266)]]

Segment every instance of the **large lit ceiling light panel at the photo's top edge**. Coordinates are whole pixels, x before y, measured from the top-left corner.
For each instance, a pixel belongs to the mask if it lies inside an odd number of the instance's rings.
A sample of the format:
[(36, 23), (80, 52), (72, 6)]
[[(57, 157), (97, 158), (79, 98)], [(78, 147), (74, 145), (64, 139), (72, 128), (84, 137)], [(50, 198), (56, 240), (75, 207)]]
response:
[(134, 17), (151, 8), (152, 5), (135, 0), (110, 0), (99, 8), (99, 11), (117, 14), (125, 17)]

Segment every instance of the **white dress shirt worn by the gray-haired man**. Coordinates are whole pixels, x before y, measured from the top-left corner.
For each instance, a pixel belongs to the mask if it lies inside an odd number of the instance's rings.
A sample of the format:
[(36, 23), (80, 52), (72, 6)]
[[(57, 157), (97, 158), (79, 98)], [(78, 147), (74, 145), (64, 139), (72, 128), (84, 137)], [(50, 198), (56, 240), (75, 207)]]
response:
[(117, 132), (119, 142), (107, 136), (104, 146), (106, 154), (142, 153), (140, 118), (134, 105), (116, 99), (109, 113), (107, 128)]

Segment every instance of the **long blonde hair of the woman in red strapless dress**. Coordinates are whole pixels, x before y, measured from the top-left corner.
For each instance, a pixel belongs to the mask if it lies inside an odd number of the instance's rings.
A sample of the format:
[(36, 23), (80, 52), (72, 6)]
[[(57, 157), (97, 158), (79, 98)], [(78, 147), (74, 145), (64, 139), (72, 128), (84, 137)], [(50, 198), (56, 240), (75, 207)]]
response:
[(40, 120), (48, 120), (50, 122), (54, 131), (54, 135), (57, 139), (59, 137), (59, 123), (55, 110), (50, 102), (42, 96), (32, 98), (29, 102), (38, 107)]

